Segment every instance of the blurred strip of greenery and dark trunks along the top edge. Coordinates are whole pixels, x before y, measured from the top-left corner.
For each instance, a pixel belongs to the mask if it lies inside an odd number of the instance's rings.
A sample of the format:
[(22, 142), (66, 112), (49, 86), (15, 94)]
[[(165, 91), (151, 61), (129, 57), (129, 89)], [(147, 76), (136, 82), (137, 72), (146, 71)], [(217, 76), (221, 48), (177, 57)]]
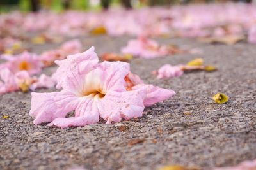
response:
[(1, 0), (0, 13), (13, 10), (106, 10), (112, 6), (125, 8), (140, 8), (143, 6), (171, 6), (174, 4), (204, 4), (243, 2), (252, 3), (252, 0)]

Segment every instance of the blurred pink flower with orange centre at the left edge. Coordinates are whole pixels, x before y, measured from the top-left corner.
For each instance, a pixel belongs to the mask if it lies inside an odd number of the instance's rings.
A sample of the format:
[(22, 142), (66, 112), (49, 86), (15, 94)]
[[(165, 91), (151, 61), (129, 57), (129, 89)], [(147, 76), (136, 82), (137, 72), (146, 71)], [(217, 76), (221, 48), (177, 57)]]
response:
[(13, 74), (26, 70), (29, 75), (38, 74), (42, 71), (42, 62), (36, 54), (23, 52), (20, 55), (1, 55), (2, 59), (7, 60), (6, 63), (0, 67), (6, 67), (12, 71)]

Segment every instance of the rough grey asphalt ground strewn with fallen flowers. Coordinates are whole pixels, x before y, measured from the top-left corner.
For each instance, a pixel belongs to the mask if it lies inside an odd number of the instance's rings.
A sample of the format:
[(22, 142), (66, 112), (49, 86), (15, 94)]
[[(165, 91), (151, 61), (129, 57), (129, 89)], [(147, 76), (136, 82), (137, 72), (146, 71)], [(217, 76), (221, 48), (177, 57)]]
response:
[[(93, 45), (98, 55), (119, 52), (128, 39), (131, 38), (84, 38), (84, 50)], [(182, 38), (157, 41), (181, 48), (197, 47), (204, 53), (132, 59), (131, 71), (145, 83), (177, 92), (170, 99), (145, 108), (143, 117), (138, 119), (118, 124), (104, 124), (101, 120), (98, 124), (66, 129), (36, 126), (28, 115), (29, 93), (0, 96), (0, 169), (158, 169), (168, 164), (211, 169), (255, 159), (255, 45), (245, 41), (230, 46), (210, 45)], [(34, 45), (33, 52), (58, 46)], [(196, 57), (218, 67), (218, 71), (197, 71), (165, 80), (156, 80), (150, 74), (163, 64), (186, 64)], [(54, 69), (50, 67), (44, 73), (51, 74)], [(212, 97), (218, 92), (230, 100), (215, 103)], [(10, 117), (4, 119), (4, 115)], [(129, 143), (136, 139), (141, 142)]]

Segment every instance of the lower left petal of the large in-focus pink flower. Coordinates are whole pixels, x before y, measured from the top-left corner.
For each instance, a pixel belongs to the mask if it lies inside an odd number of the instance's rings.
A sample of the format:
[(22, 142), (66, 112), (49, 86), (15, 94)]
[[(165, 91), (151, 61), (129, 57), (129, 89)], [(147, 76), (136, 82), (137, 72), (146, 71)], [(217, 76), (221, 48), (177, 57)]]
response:
[(42, 122), (51, 122), (55, 118), (63, 118), (77, 105), (77, 97), (65, 90), (51, 93), (31, 92), (31, 96), (29, 115), (36, 117), (34, 120), (36, 125)]

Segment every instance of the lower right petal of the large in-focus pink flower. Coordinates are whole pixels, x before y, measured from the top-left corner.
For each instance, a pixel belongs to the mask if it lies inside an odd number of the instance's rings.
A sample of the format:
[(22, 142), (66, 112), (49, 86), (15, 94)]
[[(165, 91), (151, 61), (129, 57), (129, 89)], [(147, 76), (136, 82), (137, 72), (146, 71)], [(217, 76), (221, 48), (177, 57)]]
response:
[(107, 124), (112, 121), (120, 122), (122, 118), (127, 120), (141, 117), (144, 110), (144, 98), (144, 89), (127, 92), (108, 92), (98, 104), (100, 117), (107, 120)]

